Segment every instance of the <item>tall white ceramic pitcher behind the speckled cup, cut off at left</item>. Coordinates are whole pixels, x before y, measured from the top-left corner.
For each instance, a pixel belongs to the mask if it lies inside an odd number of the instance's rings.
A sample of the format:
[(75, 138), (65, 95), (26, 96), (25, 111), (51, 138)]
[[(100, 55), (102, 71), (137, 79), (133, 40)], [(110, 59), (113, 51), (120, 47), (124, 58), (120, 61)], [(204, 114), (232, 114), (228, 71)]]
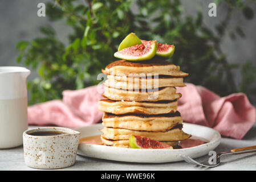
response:
[(22, 144), (27, 130), (27, 76), (29, 69), (0, 67), (0, 148)]

